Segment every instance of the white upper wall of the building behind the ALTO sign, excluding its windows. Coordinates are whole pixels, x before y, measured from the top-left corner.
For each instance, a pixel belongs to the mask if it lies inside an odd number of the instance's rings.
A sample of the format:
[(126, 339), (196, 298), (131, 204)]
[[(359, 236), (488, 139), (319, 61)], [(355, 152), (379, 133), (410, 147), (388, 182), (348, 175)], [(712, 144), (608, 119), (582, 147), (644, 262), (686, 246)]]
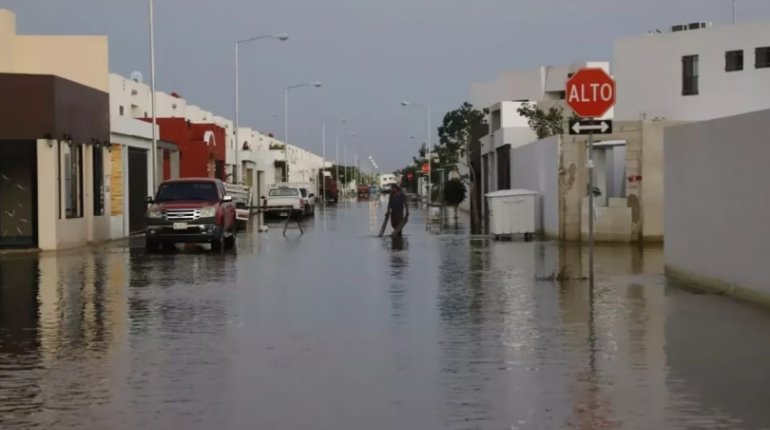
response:
[[(767, 21), (617, 40), (615, 117), (700, 121), (770, 108), (770, 69), (754, 68), (761, 46), (770, 46)], [(726, 72), (725, 52), (738, 49), (744, 70)], [(698, 95), (682, 95), (684, 55), (699, 55)]]

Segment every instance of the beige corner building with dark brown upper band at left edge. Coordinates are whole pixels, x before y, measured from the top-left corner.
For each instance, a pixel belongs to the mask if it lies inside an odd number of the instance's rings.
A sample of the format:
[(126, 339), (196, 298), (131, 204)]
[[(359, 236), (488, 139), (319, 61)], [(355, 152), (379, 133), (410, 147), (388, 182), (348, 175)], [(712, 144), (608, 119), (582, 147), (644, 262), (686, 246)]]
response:
[(104, 36), (16, 34), (0, 10), (0, 247), (54, 250), (109, 238), (109, 75)]

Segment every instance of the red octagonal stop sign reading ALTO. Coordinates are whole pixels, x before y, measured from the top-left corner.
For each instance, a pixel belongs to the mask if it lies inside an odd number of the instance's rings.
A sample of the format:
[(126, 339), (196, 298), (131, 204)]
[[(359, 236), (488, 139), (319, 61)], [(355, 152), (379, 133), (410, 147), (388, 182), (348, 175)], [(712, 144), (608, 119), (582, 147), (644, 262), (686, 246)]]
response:
[(566, 97), (577, 116), (602, 117), (615, 106), (615, 80), (604, 69), (580, 69), (567, 80)]

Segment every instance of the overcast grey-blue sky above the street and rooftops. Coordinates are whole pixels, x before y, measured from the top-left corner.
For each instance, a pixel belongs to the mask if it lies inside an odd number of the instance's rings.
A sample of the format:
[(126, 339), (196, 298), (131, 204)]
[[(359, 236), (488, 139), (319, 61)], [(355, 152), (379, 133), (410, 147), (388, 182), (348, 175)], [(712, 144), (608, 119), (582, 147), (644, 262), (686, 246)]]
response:
[[(157, 84), (233, 118), (234, 42), (287, 32), (287, 42), (243, 46), (241, 125), (283, 134), (291, 93), (291, 143), (327, 155), (342, 135), (380, 167), (405, 165), (425, 119), (402, 99), (430, 104), (433, 124), (469, 97), (470, 83), (506, 69), (611, 60), (618, 36), (671, 24), (732, 19), (731, 0), (155, 0)], [(738, 20), (770, 17), (770, 1), (738, 0)], [(146, 0), (0, 0), (20, 33), (106, 34), (110, 68), (149, 82)], [(357, 136), (349, 137), (350, 131)], [(350, 149), (350, 153), (360, 150)], [(341, 155), (340, 155), (341, 156)]]

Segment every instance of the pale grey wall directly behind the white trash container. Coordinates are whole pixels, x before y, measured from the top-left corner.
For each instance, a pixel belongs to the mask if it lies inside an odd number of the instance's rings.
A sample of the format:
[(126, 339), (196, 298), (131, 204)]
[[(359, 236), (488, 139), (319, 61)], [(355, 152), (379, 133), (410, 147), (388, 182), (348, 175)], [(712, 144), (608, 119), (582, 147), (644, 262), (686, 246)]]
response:
[(559, 137), (516, 148), (511, 153), (511, 188), (540, 193), (541, 225), (549, 238), (559, 235)]

